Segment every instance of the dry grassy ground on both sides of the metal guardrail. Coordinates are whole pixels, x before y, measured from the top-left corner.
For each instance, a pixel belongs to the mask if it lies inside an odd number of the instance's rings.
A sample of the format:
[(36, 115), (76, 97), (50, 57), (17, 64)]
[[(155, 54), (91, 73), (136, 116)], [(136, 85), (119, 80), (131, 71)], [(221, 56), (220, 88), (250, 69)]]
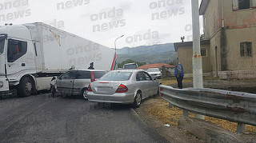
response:
[[(177, 88), (177, 81), (172, 77), (170, 79), (162, 79), (163, 85), (171, 85)], [(184, 88), (193, 87), (192, 78), (185, 78), (183, 82)], [(218, 79), (204, 79), (205, 88), (213, 89), (225, 89), (231, 91), (240, 91), (246, 93), (256, 93), (256, 79), (252, 80), (234, 80), (234, 81), (221, 81)], [(169, 109), (168, 102), (162, 100), (160, 97), (152, 97), (142, 102), (140, 108), (135, 109), (138, 116), (142, 118), (148, 125), (153, 127), (163, 137), (166, 137), (170, 142), (205, 142), (197, 137), (194, 137), (186, 130), (178, 129), (178, 118), (182, 116), (182, 109), (172, 108)], [(193, 113), (190, 113), (190, 117), (194, 117)], [(210, 121), (215, 125), (221, 126), (224, 129), (229, 129), (235, 132), (237, 123), (216, 119), (214, 117), (206, 117), (206, 121)], [(166, 127), (165, 124), (169, 124), (170, 127)], [(256, 137), (256, 127), (246, 125), (246, 133), (244, 136), (250, 142), (250, 139)], [(246, 140), (244, 140), (246, 141)]]

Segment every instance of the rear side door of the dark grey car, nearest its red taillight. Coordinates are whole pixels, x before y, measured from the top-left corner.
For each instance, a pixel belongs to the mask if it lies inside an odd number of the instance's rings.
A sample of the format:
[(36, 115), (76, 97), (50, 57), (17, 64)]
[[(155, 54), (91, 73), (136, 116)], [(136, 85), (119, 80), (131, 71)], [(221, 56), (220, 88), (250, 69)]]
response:
[(82, 89), (87, 88), (90, 84), (90, 71), (78, 70), (74, 79), (74, 94), (81, 94)]

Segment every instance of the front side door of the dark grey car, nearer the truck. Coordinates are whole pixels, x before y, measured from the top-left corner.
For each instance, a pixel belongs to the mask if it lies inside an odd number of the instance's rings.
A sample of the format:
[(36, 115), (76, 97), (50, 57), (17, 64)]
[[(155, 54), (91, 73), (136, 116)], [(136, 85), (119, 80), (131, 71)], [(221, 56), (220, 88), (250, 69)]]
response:
[(76, 70), (63, 73), (57, 80), (57, 89), (61, 93), (72, 94)]

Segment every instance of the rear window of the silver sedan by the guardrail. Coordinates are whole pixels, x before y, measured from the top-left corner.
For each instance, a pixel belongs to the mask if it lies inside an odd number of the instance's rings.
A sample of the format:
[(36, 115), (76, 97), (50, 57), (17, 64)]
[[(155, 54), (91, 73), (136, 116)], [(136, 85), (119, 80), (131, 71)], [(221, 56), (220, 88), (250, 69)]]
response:
[(101, 81), (128, 81), (132, 72), (110, 72), (106, 73)]

